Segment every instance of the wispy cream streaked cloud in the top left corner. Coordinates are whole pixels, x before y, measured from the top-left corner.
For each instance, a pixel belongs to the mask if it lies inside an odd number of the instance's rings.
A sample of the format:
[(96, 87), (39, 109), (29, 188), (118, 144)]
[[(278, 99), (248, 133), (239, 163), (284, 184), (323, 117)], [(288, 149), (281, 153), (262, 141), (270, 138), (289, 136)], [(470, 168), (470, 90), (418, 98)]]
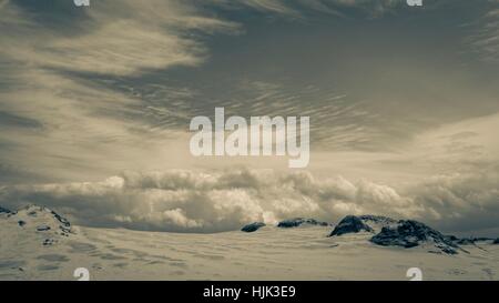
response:
[[(172, 65), (197, 65), (204, 61), (206, 49), (184, 32), (235, 32), (238, 28), (203, 17), (176, 1), (128, 0), (119, 6), (96, 1), (77, 13), (78, 18), (64, 20), (61, 29), (47, 30), (40, 18), (57, 19), (67, 12), (57, 6), (62, 1), (55, 2), (53, 11), (38, 18), (14, 2), (4, 4), (0, 10), (2, 18), (6, 16), (0, 23), (2, 31), (17, 34), (2, 39), (1, 53), (19, 63), (29, 61), (48, 69), (130, 75)], [(74, 10), (78, 8), (70, 11)]]

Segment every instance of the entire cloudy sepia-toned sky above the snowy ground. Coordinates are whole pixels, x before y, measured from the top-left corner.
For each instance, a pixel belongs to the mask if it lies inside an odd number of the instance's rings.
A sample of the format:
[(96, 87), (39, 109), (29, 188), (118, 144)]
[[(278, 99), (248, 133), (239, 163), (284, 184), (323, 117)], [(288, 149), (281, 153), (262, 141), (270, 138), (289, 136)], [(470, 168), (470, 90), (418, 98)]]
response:
[[(499, 233), (499, 1), (0, 0), (0, 204), (92, 226), (386, 214)], [(310, 162), (194, 158), (196, 115), (308, 115)]]

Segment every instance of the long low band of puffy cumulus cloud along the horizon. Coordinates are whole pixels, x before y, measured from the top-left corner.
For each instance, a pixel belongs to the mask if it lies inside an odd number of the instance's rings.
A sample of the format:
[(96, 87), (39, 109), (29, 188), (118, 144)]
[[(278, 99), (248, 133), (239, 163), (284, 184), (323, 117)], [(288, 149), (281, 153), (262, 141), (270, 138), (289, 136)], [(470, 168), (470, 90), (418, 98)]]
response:
[(445, 231), (497, 228), (499, 166), (441, 174), (407, 189), (309, 172), (238, 169), (124, 172), (102, 182), (6, 185), (0, 205), (37, 203), (91, 226), (221, 232), (243, 224), (347, 214), (416, 219)]

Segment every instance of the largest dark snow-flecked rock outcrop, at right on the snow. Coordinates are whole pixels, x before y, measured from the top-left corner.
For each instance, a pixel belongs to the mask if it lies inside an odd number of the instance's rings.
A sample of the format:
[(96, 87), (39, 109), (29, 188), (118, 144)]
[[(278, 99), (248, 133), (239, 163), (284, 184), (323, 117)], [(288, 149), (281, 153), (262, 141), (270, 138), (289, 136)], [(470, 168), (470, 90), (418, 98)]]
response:
[(459, 249), (440, 232), (413, 220), (400, 220), (395, 225), (384, 226), (378, 234), (370, 239), (370, 242), (377, 245), (406, 249), (418, 246), (427, 241), (431, 241), (437, 249), (447, 254), (456, 254), (456, 249)]

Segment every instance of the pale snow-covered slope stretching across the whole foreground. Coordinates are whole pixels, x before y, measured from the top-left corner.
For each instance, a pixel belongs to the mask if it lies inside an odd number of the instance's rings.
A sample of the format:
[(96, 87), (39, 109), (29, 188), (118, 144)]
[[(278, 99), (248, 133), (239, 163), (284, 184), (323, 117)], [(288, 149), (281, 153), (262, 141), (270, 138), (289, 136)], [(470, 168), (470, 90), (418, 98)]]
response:
[(328, 236), (328, 225), (184, 234), (71, 226), (60, 218), (39, 206), (0, 214), (0, 280), (75, 280), (78, 267), (91, 280), (407, 280), (409, 267), (424, 280), (499, 277), (491, 241), (449, 255), (422, 244), (376, 245), (365, 231)]

